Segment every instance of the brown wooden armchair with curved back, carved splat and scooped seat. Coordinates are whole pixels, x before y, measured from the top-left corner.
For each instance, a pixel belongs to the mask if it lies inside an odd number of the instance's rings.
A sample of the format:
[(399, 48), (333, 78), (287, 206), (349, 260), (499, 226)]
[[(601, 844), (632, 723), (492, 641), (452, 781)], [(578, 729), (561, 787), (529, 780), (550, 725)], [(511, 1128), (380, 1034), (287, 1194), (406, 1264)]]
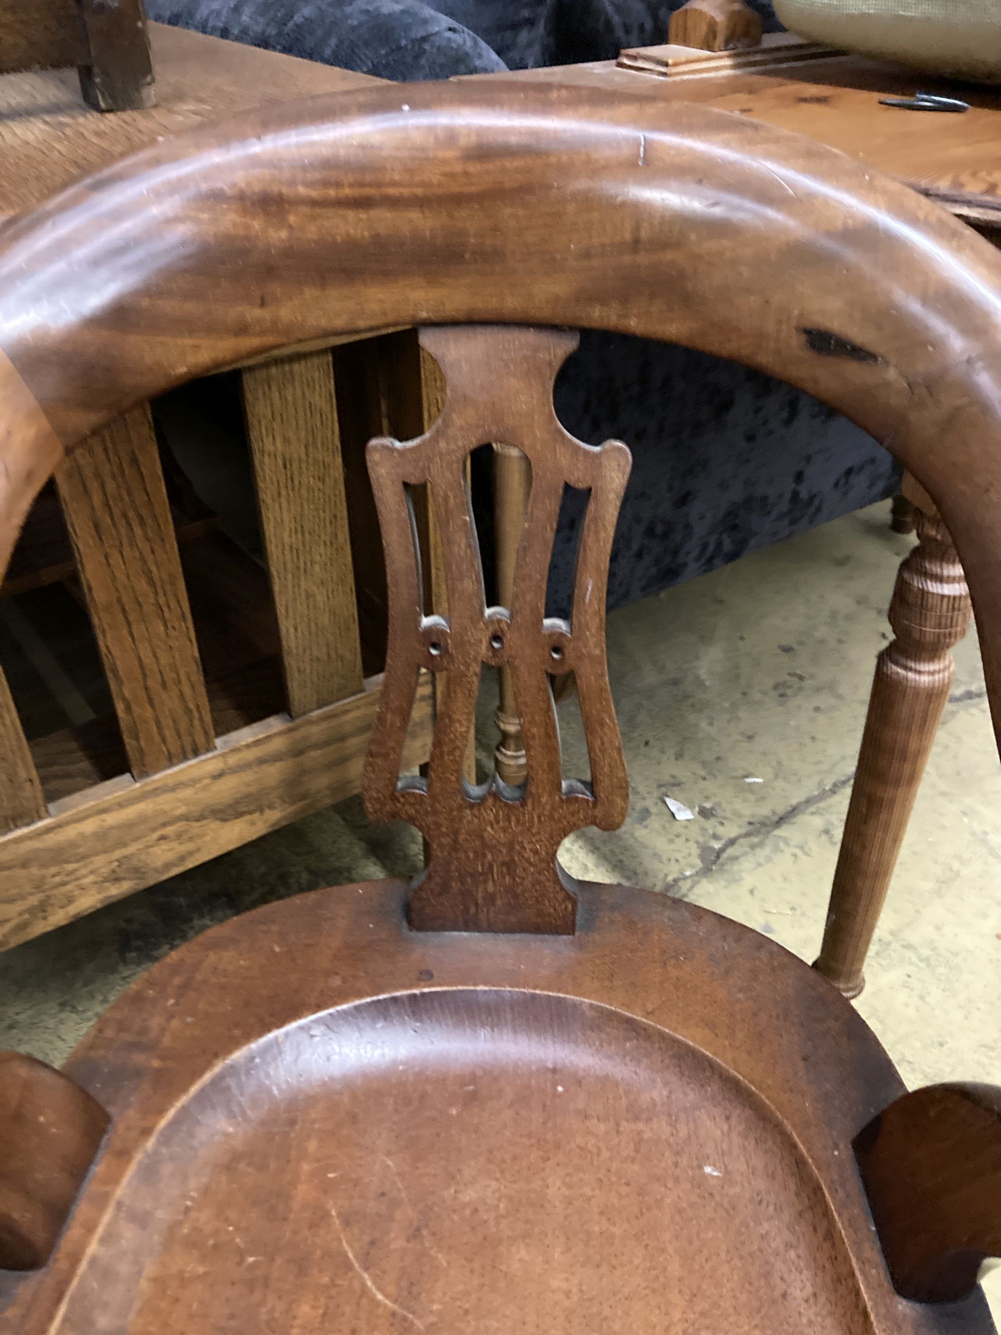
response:
[[(367, 801), (430, 864), (207, 932), (61, 1077), (5, 1059), (4, 1332), (993, 1328), (998, 1091), (902, 1097), (850, 1004), (775, 943), (559, 869), (563, 836), (627, 801), (603, 619), (629, 451), (569, 437), (551, 386), (590, 323), (781, 370), (864, 422), (957, 539), (1001, 732), (998, 314), (990, 247), (893, 182), (738, 117), (562, 88), (266, 111), (7, 234), (8, 547), (64, 455), (186, 375), (360, 315), (424, 326), (446, 394), (423, 435), (368, 447), (390, 646)], [(866, 355), (821, 354), (815, 330)], [(484, 607), (466, 490), (492, 441), (531, 466), (509, 607)], [(571, 615), (547, 621), (566, 485), (590, 502)], [(511, 669), (522, 789), (463, 777), (483, 662)], [(567, 670), (590, 784), (562, 773), (547, 680)], [(418, 778), (400, 749), (424, 672)]]

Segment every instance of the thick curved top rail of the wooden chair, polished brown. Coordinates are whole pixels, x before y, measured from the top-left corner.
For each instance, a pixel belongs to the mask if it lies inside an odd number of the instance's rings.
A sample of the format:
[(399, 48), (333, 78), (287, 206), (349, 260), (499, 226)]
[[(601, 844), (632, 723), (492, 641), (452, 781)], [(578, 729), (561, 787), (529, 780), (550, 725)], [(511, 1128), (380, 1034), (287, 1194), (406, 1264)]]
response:
[(1001, 730), (1000, 318), (986, 242), (741, 116), (490, 80), (314, 99), (171, 139), (7, 232), (0, 562), (61, 449), (238, 359), (394, 323), (626, 331), (817, 395), (920, 479)]

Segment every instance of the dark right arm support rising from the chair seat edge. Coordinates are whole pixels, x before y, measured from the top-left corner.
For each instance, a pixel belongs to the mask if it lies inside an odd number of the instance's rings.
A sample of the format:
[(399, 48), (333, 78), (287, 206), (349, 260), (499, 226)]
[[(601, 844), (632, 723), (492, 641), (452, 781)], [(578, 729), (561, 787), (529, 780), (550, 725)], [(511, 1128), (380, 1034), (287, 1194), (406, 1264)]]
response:
[(1001, 1088), (916, 1089), (874, 1117), (854, 1151), (897, 1292), (966, 1298), (985, 1258), (1001, 1256)]

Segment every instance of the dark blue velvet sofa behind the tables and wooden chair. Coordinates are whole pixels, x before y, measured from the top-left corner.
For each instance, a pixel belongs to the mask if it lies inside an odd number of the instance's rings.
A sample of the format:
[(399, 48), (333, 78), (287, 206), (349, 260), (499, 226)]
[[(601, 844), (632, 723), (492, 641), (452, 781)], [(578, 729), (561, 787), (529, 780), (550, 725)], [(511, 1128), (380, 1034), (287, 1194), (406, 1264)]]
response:
[[(147, 0), (149, 17), (384, 79), (613, 59), (666, 40), (682, 0)], [(751, 0), (777, 28), (767, 0)], [(565, 426), (633, 450), (611, 607), (890, 495), (889, 454), (815, 400), (685, 348), (585, 332), (557, 384)], [(569, 597), (573, 514), (557, 539)]]

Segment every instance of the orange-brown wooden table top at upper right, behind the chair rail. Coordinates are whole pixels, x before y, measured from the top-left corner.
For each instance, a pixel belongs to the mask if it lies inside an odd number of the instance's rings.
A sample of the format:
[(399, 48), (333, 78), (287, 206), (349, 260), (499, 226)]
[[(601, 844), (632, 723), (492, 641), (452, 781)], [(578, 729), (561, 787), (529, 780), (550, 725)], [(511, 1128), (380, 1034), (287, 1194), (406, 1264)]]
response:
[[(653, 96), (709, 103), (794, 129), (932, 195), (952, 212), (1001, 228), (1001, 88), (932, 79), (864, 56), (735, 72), (639, 73), (614, 61), (476, 77), (649, 87)], [(880, 97), (917, 89), (961, 97), (961, 113), (902, 111)]]

